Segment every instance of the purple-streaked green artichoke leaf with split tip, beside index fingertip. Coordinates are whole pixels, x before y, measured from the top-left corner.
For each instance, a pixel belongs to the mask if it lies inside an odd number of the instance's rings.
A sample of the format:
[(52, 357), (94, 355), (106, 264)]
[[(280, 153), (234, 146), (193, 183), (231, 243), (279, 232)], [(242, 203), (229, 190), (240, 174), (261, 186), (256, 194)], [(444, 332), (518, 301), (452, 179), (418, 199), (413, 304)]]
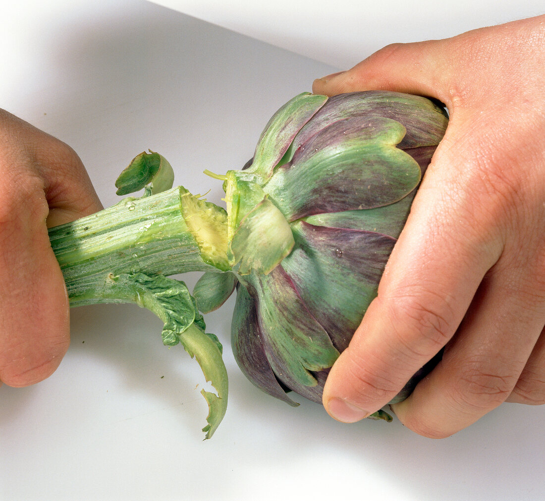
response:
[(311, 371), (333, 365), (339, 355), (328, 333), (312, 316), (282, 266), (269, 275), (245, 277), (256, 295), (265, 353), (277, 377), (290, 389), (316, 386)]

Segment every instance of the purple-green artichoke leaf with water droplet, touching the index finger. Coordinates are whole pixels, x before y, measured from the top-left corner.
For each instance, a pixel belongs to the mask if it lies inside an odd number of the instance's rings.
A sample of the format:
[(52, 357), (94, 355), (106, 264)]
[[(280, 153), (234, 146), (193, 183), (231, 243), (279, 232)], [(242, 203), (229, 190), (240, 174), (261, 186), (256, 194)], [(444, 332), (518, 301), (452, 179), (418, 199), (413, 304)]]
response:
[[(282, 267), (337, 350), (348, 347), (396, 242), (371, 231), (293, 225), (295, 248)], [(355, 293), (357, 291), (357, 294)]]

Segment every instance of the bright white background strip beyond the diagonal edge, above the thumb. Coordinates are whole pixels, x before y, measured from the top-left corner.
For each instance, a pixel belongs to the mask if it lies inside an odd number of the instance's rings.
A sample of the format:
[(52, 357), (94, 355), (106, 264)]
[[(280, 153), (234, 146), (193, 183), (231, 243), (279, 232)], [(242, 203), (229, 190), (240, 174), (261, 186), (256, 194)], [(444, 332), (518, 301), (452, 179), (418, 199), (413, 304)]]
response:
[(545, 13), (543, 0), (156, 0), (156, 3), (341, 69), (351, 68), (393, 42), (446, 38)]

